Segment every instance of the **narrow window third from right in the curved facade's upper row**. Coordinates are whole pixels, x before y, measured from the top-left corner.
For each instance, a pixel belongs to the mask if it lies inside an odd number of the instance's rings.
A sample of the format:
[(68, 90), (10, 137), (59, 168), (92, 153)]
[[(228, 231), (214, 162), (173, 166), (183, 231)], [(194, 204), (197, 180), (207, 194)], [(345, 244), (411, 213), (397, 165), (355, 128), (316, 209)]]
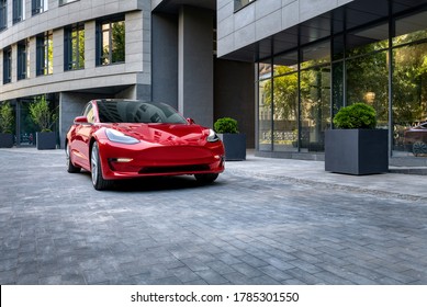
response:
[(36, 39), (36, 75), (52, 75), (54, 62), (53, 32), (48, 31)]

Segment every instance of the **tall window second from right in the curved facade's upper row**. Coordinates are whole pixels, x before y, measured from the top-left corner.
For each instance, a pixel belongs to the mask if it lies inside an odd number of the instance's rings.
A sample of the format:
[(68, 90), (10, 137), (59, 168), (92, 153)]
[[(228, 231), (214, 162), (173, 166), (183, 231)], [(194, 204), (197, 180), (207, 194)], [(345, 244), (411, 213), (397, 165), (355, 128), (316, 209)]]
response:
[(64, 70), (85, 68), (85, 24), (65, 29)]

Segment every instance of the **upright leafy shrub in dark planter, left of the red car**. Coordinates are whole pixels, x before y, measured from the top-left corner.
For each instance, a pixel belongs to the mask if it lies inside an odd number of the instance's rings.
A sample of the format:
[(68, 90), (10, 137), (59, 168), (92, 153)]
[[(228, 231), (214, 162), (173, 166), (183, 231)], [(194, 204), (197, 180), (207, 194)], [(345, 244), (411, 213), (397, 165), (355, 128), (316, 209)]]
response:
[(37, 149), (55, 149), (56, 134), (52, 132), (52, 126), (57, 120), (57, 114), (50, 109), (45, 95), (35, 98), (30, 104), (30, 115), (41, 129), (35, 138)]

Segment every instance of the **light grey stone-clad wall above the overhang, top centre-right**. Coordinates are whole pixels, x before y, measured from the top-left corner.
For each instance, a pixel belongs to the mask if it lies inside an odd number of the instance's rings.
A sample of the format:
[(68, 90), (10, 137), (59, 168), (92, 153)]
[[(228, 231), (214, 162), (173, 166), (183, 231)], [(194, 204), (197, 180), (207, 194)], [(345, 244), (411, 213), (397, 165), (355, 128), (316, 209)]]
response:
[(256, 0), (234, 11), (234, 0), (217, 0), (218, 57), (353, 0)]

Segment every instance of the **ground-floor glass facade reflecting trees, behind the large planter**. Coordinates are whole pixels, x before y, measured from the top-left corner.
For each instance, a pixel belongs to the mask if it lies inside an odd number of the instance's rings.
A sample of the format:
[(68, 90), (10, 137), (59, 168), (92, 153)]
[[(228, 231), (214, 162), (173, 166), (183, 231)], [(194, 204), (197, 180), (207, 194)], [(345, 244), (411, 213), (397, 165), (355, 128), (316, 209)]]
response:
[(427, 8), (259, 60), (257, 150), (322, 152), (336, 112), (364, 102), (389, 129), (390, 155), (414, 157), (427, 140), (407, 133), (427, 121), (426, 19)]

